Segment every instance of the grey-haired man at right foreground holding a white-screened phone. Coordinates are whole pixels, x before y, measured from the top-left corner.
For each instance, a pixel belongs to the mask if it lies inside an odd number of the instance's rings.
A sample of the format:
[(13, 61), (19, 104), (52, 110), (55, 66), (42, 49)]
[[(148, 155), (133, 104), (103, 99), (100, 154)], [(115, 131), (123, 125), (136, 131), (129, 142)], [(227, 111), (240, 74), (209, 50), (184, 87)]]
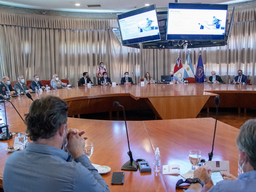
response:
[[(236, 178), (232, 174), (223, 173), (224, 181), (218, 182), (209, 192), (241, 192), (256, 189), (256, 119), (246, 121), (240, 128), (236, 139), (239, 158), (238, 166), (242, 174)], [(211, 179), (211, 170), (207, 166), (194, 170), (194, 178), (199, 178), (204, 184)], [(202, 184), (196, 182), (186, 192), (202, 191)]]

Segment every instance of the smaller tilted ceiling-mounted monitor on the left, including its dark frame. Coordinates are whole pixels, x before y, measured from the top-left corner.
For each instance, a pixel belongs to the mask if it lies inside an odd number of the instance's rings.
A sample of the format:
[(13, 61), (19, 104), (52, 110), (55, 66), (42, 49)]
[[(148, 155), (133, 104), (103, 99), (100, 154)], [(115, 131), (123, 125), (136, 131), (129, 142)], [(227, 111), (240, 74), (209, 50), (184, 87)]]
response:
[(155, 4), (117, 16), (123, 45), (161, 40)]

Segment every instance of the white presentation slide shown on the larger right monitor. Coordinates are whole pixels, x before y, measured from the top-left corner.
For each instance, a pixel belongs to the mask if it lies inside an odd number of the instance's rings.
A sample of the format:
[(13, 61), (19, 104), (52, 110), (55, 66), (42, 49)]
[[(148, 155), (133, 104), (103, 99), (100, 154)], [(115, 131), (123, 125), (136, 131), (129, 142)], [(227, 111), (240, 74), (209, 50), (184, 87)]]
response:
[(167, 34), (225, 34), (227, 10), (169, 9)]

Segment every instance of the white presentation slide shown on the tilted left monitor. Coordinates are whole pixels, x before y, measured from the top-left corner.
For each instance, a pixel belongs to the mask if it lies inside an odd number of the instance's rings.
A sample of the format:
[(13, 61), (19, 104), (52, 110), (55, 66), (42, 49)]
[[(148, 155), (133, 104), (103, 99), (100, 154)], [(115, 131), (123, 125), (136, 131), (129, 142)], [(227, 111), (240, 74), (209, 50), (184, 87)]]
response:
[(120, 19), (119, 25), (123, 40), (159, 34), (155, 10)]

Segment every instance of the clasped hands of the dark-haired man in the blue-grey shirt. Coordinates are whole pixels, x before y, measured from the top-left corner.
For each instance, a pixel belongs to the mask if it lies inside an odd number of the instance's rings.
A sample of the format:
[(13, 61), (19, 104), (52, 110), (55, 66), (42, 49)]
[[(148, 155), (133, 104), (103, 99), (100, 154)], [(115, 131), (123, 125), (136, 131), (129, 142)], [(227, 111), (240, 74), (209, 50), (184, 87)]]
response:
[(68, 145), (66, 149), (74, 159), (84, 155), (84, 140), (88, 138), (82, 137), (84, 133), (84, 130), (80, 132), (78, 129), (72, 128), (68, 128), (67, 130)]

